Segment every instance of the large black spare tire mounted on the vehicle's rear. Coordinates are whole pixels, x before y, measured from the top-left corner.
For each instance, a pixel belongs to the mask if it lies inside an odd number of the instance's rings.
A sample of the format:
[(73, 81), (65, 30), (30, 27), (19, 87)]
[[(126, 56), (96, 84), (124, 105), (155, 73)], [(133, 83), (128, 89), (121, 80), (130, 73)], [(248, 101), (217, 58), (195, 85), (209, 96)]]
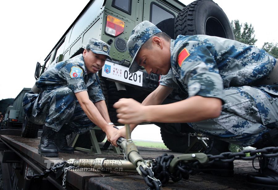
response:
[(211, 0), (197, 0), (184, 7), (175, 21), (178, 35), (204, 34), (234, 40), (234, 32), (224, 11)]

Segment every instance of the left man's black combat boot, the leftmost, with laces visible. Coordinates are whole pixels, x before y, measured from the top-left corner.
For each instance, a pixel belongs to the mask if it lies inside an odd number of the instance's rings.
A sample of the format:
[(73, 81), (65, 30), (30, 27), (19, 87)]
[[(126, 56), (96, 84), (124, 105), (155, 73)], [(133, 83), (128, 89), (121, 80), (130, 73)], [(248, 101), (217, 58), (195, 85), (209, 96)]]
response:
[(40, 144), (38, 153), (46, 157), (58, 157), (57, 147), (54, 145), (55, 131), (50, 127), (44, 126), (40, 137)]

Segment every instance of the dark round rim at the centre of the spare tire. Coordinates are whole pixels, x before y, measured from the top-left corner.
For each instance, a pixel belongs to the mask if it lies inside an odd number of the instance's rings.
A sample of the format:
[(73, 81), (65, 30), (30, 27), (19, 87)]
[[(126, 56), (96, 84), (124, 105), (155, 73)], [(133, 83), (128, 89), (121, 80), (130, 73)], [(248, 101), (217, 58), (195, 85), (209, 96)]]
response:
[(209, 17), (205, 23), (205, 33), (208, 36), (227, 38), (224, 27), (215, 17)]

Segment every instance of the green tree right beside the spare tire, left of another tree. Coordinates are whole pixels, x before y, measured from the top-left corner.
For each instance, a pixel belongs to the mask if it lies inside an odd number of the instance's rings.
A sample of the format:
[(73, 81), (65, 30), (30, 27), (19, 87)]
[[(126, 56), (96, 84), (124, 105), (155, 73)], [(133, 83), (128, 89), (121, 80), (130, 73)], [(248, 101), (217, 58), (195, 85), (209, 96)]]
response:
[(255, 31), (252, 24), (248, 25), (247, 23), (244, 23), (242, 28), (242, 24), (239, 24), (239, 20), (232, 20), (231, 25), (236, 41), (240, 41), (248, 45), (255, 45), (257, 39), (255, 38)]

